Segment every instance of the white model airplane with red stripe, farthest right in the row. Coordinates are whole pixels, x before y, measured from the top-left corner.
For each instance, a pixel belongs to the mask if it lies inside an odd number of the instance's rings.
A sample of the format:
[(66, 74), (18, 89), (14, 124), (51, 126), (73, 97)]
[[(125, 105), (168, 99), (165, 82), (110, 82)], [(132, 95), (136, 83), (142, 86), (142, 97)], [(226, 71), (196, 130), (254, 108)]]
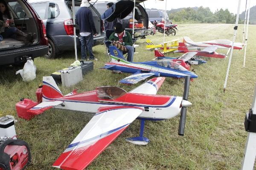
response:
[[(207, 48), (207, 47), (217, 47), (219, 49), (228, 49), (232, 47), (232, 41), (230, 40), (211, 40), (211, 41), (202, 41), (202, 42), (194, 42), (189, 37), (183, 37), (183, 42), (186, 43), (189, 50), (197, 49), (197, 48)], [(243, 44), (240, 42), (234, 43), (234, 49), (241, 50), (243, 48)]]

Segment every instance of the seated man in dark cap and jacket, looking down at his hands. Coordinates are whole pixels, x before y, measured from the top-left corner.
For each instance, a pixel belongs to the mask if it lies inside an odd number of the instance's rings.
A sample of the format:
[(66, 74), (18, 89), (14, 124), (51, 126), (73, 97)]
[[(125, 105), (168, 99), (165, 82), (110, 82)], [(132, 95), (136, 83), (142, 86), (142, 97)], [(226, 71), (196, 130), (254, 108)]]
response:
[[(113, 41), (113, 44), (121, 44), (124, 45), (126, 51), (128, 52), (127, 61), (132, 62), (134, 56), (134, 48), (132, 47), (132, 39), (131, 34), (125, 31), (125, 28), (122, 27), (121, 23), (116, 23), (114, 27), (114, 32), (110, 35), (109, 41)], [(119, 51), (122, 52), (122, 50)]]

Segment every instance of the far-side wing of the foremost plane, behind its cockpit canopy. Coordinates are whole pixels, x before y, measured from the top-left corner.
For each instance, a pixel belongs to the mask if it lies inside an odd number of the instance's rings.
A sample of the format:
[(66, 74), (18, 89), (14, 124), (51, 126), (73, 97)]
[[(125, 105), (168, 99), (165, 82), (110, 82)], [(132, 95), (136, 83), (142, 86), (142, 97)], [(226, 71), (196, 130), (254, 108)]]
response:
[(154, 77), (153, 79), (148, 80), (137, 88), (134, 88), (129, 93), (157, 94), (157, 91), (163, 84), (164, 80), (165, 77)]

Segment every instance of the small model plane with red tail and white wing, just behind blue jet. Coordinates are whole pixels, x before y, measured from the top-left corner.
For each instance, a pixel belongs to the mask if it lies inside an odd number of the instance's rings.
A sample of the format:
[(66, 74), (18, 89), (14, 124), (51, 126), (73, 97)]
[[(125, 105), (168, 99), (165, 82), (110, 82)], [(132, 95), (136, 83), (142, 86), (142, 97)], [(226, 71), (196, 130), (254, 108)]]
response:
[[(204, 61), (203, 59), (194, 57), (197, 54), (197, 52), (187, 52), (178, 58), (166, 57), (163, 55), (163, 53), (161, 53), (157, 49), (154, 50), (154, 54), (155, 54), (156, 58), (154, 58), (153, 60), (167, 60), (167, 61), (174, 61), (174, 62), (180, 60), (180, 61), (189, 63), (190, 65), (199, 65), (199, 64), (206, 63), (206, 61)], [(183, 64), (181, 64), (181, 65), (184, 67)]]

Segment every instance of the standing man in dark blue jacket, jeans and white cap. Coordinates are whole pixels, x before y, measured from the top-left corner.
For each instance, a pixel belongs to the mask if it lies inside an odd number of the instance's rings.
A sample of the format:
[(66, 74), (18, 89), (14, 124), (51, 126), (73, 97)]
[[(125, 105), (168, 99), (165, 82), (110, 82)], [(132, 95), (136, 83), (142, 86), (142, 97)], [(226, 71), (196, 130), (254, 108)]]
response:
[(90, 3), (87, 0), (82, 0), (81, 8), (76, 12), (76, 24), (79, 25), (80, 30), (80, 41), (81, 41), (81, 55), (83, 60), (87, 60), (87, 51), (90, 55), (90, 60), (97, 60), (93, 55), (93, 36), (98, 33), (96, 31), (93, 14), (89, 9)]

